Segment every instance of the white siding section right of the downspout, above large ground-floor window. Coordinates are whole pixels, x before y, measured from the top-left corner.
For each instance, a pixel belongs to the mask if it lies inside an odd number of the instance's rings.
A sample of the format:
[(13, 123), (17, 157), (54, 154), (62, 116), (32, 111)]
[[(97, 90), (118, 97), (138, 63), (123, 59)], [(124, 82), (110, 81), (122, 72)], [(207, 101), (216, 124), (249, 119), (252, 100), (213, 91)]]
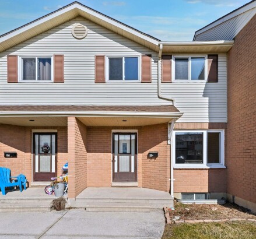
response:
[(177, 122), (227, 122), (226, 54), (219, 54), (218, 65), (217, 83), (174, 80), (162, 84), (163, 96), (174, 98), (175, 106), (184, 113)]

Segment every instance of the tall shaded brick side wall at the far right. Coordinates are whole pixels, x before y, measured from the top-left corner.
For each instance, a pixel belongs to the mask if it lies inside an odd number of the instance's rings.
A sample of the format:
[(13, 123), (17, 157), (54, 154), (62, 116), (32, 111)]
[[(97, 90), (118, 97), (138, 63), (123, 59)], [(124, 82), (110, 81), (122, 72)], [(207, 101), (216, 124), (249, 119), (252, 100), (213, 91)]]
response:
[(256, 203), (256, 16), (228, 52), (227, 193)]

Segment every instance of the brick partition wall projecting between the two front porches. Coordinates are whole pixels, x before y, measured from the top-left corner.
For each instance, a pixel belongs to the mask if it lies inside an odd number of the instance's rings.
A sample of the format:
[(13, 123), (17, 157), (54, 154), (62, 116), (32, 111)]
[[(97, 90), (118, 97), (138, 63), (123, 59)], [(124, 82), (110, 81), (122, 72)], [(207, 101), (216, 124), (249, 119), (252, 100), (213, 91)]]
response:
[(68, 117), (69, 198), (87, 187), (87, 128), (75, 117)]

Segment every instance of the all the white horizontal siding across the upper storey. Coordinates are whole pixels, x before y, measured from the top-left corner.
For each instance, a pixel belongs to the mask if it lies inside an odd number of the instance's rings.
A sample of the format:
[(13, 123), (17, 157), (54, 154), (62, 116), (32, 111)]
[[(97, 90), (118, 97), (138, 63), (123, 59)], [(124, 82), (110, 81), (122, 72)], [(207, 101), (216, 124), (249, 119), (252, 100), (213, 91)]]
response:
[[(73, 24), (88, 28), (78, 40)], [(36, 56), (64, 54), (64, 83), (7, 83), (8, 54)], [(152, 55), (152, 82), (94, 83), (95, 55)], [(158, 52), (113, 33), (81, 17), (0, 53), (0, 105), (163, 105), (157, 97)], [(176, 99), (184, 112), (179, 122), (226, 122), (226, 56), (219, 55), (218, 83), (163, 83), (165, 96)], [(218, 96), (218, 97), (216, 97)], [(210, 115), (208, 115), (210, 114)]]

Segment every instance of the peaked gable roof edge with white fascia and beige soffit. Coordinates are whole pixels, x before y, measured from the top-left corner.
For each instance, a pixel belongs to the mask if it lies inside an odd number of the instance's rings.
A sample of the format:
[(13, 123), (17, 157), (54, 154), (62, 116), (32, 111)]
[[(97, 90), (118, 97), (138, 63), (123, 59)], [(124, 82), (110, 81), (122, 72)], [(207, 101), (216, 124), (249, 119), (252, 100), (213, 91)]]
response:
[(159, 39), (143, 33), (142, 31), (136, 30), (127, 24), (119, 22), (118, 20), (75, 1), (63, 8), (33, 20), (30, 23), (24, 24), (17, 29), (2, 34), (0, 36), (0, 52), (22, 43), (23, 41), (29, 40), (44, 31), (68, 22), (78, 16), (85, 17), (106, 29), (114, 31), (121, 36), (150, 48), (153, 51), (159, 50)]

